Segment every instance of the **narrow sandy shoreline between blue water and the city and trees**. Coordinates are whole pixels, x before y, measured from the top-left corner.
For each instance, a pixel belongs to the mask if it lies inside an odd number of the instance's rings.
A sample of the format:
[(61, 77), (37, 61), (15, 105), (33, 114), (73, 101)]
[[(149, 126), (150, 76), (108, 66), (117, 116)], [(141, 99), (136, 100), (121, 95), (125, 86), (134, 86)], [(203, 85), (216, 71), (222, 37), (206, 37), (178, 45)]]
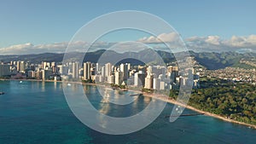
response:
[[(8, 81), (31, 81), (31, 82), (56, 82), (56, 83), (63, 83), (63, 81), (55, 81), (55, 80), (39, 80), (39, 79), (4, 79), (4, 78), (0, 78), (0, 81), (5, 81), (5, 80), (8, 80)], [(71, 83), (71, 84), (83, 84), (83, 85), (99, 85), (99, 86), (105, 86), (105, 85), (102, 85), (102, 84), (85, 84), (85, 83), (82, 83), (82, 82), (64, 82), (64, 83)], [(160, 101), (166, 101), (168, 103), (172, 103), (174, 105), (178, 105), (178, 106), (181, 106), (181, 107), (185, 107), (185, 108), (188, 108), (192, 111), (195, 111), (195, 112), (200, 112), (200, 113), (204, 113), (204, 115), (206, 116), (209, 116), (209, 117), (212, 117), (212, 118), (218, 118), (218, 119), (221, 119), (225, 122), (229, 122), (229, 123), (233, 123), (233, 124), (241, 124), (241, 125), (244, 125), (244, 126), (247, 126), (248, 128), (253, 128), (256, 130), (256, 125), (254, 124), (247, 124), (247, 123), (243, 123), (243, 122), (239, 122), (239, 121), (236, 121), (234, 119), (230, 119), (230, 118), (224, 118), (218, 114), (214, 114), (212, 112), (207, 112), (207, 111), (202, 111), (200, 109), (197, 109), (195, 107), (191, 107), (189, 105), (183, 105), (182, 103), (179, 103), (178, 101), (175, 101), (175, 100), (172, 100), (172, 99), (169, 99), (169, 97), (167, 96), (163, 96), (163, 95), (152, 95), (152, 94), (149, 94), (149, 93), (145, 93), (145, 92), (142, 92), (142, 91), (138, 91), (136, 89), (128, 89), (128, 91), (133, 91), (133, 92), (137, 92), (137, 93), (143, 93), (143, 96), (148, 96), (148, 97), (151, 97), (151, 98), (154, 98), (154, 99), (158, 99)]]

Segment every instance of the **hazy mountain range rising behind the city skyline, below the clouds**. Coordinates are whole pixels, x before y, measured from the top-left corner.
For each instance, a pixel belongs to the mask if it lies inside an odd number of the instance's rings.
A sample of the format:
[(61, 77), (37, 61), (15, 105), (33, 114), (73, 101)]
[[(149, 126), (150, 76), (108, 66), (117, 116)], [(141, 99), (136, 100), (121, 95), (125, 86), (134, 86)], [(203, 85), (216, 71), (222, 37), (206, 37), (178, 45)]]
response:
[[(87, 53), (84, 56), (84, 61), (91, 61), (97, 62), (97, 60), (101, 57), (101, 55), (106, 52), (105, 49), (97, 50), (94, 52)], [(165, 62), (172, 62), (175, 61), (175, 57), (171, 53), (167, 53), (166, 51), (157, 51), (160, 57)], [(106, 53), (105, 53), (106, 54)], [(209, 70), (221, 69), (227, 66), (235, 66), (241, 68), (255, 68), (255, 60), (256, 60), (256, 53), (237, 53), (237, 52), (201, 52), (195, 53), (194, 51), (189, 51), (189, 54), (195, 58), (196, 61), (201, 66), (205, 66)], [(73, 52), (70, 53), (71, 56), (83, 56), (83, 53)], [(137, 53), (135, 52), (125, 52), (119, 54), (115, 51), (108, 50), (107, 56), (111, 59), (122, 59), (125, 55), (132, 55), (132, 57), (137, 58), (137, 60), (130, 60), (131, 64), (141, 64), (138, 60), (142, 58), (144, 60), (150, 59), (150, 56), (153, 55), (152, 51), (148, 51), (148, 49), (144, 49)], [(0, 55), (0, 61), (9, 62), (11, 60), (26, 60), (32, 62), (41, 62), (41, 61), (56, 61), (61, 62), (63, 59), (64, 54), (55, 54), (55, 53), (44, 53), (44, 54), (37, 54), (37, 55)], [(152, 59), (152, 58), (151, 58)], [(122, 61), (121, 61), (122, 62)], [(125, 62), (125, 61), (123, 61)]]

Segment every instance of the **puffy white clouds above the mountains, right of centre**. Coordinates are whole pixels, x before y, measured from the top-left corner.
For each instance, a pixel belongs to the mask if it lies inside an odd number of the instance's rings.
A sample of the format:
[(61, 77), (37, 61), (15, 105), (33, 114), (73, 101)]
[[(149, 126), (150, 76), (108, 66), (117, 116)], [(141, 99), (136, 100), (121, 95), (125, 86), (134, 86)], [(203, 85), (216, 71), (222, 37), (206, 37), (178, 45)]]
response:
[[(180, 43), (180, 37), (177, 33), (162, 33), (157, 37), (143, 37), (139, 39), (142, 43), (169, 43), (175, 47), (175, 43)], [(163, 41), (160, 41), (160, 39)], [(189, 37), (184, 40), (188, 49), (194, 51), (244, 51), (248, 49), (250, 51), (256, 51), (256, 35), (245, 36), (233, 36), (230, 39), (223, 39), (219, 36), (207, 36), (207, 37)], [(162, 46), (155, 46), (162, 47)]]

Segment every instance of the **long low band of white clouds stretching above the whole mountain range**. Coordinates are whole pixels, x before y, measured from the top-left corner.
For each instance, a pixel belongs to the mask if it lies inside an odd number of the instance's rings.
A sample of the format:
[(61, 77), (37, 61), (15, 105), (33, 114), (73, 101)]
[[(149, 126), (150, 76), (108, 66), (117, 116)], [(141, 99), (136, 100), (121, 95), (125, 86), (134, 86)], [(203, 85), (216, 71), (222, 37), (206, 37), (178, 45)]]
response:
[[(174, 45), (179, 41), (180, 36), (177, 33), (162, 33), (157, 37), (143, 37), (138, 39), (137, 43), (153, 44), (156, 49), (163, 49), (162, 43), (169, 43)], [(233, 36), (229, 39), (223, 39), (218, 36), (207, 36), (207, 37), (188, 37), (184, 39), (187, 48), (196, 52), (222, 52), (222, 51), (239, 51), (239, 52), (256, 52), (256, 35), (249, 36)], [(71, 43), (73, 51), (84, 51), (84, 46), (89, 43), (86, 42), (75, 42)], [(116, 43), (108, 42), (96, 42), (90, 50), (97, 49), (108, 49)], [(24, 54), (39, 54), (39, 53), (64, 53), (67, 49), (67, 42), (61, 43), (49, 43), (49, 44), (38, 44), (24, 43), (9, 46), (6, 48), (0, 48), (0, 55), (24, 55)], [(134, 46), (133, 46), (134, 47)], [(119, 49), (127, 49), (127, 45), (124, 44)]]

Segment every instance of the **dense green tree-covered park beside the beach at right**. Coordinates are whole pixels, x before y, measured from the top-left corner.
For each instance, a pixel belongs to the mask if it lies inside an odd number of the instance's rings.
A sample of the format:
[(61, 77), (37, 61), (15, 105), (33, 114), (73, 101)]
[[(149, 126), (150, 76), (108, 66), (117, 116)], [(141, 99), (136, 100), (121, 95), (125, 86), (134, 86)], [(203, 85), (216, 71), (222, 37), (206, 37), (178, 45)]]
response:
[[(256, 124), (256, 89), (253, 84), (218, 78), (201, 78), (201, 88), (192, 89), (189, 106), (247, 124)], [(176, 99), (177, 89), (170, 97)]]

